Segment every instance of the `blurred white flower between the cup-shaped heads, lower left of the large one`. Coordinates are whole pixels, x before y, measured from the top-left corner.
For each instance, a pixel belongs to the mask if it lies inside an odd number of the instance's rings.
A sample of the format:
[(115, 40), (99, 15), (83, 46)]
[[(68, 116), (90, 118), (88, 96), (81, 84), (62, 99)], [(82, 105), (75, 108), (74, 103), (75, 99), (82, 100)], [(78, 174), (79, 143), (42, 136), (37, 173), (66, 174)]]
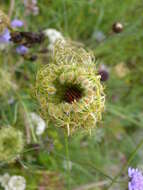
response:
[(30, 119), (33, 129), (35, 130), (36, 135), (42, 135), (46, 128), (45, 121), (36, 113), (30, 113)]

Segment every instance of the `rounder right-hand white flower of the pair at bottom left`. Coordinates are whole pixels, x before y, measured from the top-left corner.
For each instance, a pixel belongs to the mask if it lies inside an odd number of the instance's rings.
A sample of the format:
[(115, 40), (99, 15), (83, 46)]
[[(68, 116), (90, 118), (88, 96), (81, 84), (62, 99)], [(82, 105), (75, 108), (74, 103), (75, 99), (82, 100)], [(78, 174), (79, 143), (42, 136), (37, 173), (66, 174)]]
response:
[(22, 176), (12, 176), (8, 181), (8, 190), (25, 190), (26, 181)]

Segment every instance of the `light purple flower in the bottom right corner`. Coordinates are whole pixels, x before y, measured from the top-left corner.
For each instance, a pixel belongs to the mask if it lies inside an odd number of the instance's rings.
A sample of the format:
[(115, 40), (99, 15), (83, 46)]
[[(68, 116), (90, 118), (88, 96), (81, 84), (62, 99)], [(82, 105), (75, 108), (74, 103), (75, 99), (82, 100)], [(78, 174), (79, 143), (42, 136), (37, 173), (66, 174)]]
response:
[(130, 181), (128, 183), (128, 190), (143, 190), (143, 174), (138, 169), (129, 168), (128, 176)]

